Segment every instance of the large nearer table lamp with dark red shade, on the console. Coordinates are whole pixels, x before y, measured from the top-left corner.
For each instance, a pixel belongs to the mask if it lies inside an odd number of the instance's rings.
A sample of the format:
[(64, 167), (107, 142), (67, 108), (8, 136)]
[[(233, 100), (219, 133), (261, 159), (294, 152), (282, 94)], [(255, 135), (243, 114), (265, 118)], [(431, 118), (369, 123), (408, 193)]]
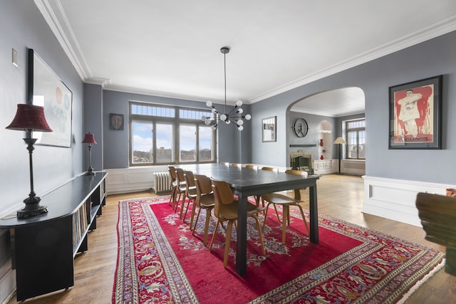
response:
[(18, 218), (27, 218), (30, 216), (36, 216), (38, 214), (46, 213), (48, 211), (47, 206), (41, 206), (39, 203), (41, 198), (36, 196), (33, 191), (33, 162), (32, 153), (35, 149), (33, 145), (36, 142), (36, 138), (32, 138), (32, 132), (52, 132), (49, 127), (46, 118), (44, 117), (44, 108), (38, 105), (31, 104), (19, 104), (17, 105), (16, 116), (14, 120), (9, 124), (6, 129), (26, 131), (26, 138), (24, 142), (27, 144), (28, 159), (30, 166), (30, 194), (28, 198), (24, 199), (26, 204), (24, 209), (17, 211)]

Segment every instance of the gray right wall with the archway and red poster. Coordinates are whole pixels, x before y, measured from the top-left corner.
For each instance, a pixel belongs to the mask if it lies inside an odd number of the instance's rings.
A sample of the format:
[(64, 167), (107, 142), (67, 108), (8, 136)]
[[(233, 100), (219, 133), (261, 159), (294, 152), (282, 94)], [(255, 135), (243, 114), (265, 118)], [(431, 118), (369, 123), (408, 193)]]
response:
[[(456, 32), (425, 41), (356, 68), (328, 76), (252, 105), (252, 162), (286, 166), (289, 140), (262, 143), (259, 120), (277, 115), (279, 134), (288, 134), (287, 109), (297, 100), (337, 88), (359, 87), (366, 96), (366, 175), (455, 184)], [(443, 75), (442, 150), (388, 150), (388, 88)]]

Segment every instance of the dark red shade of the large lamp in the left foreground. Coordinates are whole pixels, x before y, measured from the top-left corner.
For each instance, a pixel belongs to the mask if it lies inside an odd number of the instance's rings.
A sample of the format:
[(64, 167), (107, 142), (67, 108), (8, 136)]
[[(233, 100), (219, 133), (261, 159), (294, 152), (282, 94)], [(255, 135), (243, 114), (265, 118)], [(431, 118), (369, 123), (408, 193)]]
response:
[(39, 105), (19, 104), (14, 120), (6, 129), (9, 130), (33, 130), (38, 132), (52, 132), (46, 118), (44, 108)]

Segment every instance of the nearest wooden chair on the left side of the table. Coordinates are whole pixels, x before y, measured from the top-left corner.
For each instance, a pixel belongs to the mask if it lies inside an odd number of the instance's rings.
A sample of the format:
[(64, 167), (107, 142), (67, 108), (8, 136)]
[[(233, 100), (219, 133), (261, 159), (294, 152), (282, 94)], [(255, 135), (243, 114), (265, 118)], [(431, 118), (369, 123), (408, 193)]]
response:
[[(229, 187), (229, 184), (224, 181), (217, 181), (211, 179), (212, 182), (212, 192), (214, 192), (214, 216), (217, 217), (217, 224), (215, 225), (214, 234), (212, 234), (212, 240), (209, 245), (209, 251), (212, 250), (212, 245), (214, 244), (215, 236), (217, 235), (217, 228), (219, 224), (223, 224), (225, 221), (227, 224), (227, 236), (225, 238), (225, 248), (223, 256), (223, 267), (227, 268), (228, 265), (228, 253), (229, 246), (231, 243), (231, 233), (233, 224), (237, 221), (237, 205), (238, 200), (234, 199), (232, 189)], [(263, 256), (266, 255), (264, 251), (263, 243), (263, 233), (261, 232), (261, 226), (259, 225), (258, 214), (263, 211), (264, 208), (255, 206), (247, 202), (247, 216), (250, 216), (255, 219), (255, 224), (257, 225), (259, 239), (261, 241), (261, 250)]]

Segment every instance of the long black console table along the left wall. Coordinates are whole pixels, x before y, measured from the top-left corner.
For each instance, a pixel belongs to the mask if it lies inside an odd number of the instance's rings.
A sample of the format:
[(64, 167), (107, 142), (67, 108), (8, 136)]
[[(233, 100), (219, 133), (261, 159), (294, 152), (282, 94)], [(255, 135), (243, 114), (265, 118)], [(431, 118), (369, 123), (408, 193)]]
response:
[(74, 256), (88, 250), (88, 231), (105, 204), (106, 175), (81, 175), (42, 196), (46, 214), (0, 219), (0, 228), (10, 229), (17, 300), (74, 285)]

